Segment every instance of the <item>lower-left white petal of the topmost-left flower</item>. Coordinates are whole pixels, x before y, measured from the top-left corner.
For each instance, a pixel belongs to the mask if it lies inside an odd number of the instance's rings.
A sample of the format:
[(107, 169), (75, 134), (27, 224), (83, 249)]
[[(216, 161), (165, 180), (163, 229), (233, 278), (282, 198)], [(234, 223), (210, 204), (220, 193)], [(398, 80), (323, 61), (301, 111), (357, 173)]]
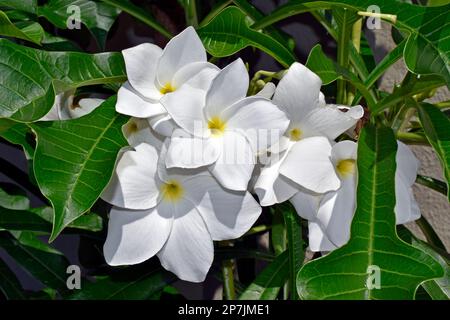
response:
[(136, 118), (148, 118), (166, 112), (161, 103), (149, 102), (140, 96), (128, 82), (125, 82), (119, 89), (116, 111)]

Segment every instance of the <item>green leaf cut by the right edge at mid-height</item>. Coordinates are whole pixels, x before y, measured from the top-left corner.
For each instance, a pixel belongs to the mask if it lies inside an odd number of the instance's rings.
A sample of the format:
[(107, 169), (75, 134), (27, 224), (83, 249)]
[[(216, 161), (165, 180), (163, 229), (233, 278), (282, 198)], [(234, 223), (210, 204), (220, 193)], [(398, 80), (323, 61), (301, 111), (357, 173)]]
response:
[(421, 103), (417, 106), (425, 135), (441, 160), (450, 201), (450, 119), (431, 104)]

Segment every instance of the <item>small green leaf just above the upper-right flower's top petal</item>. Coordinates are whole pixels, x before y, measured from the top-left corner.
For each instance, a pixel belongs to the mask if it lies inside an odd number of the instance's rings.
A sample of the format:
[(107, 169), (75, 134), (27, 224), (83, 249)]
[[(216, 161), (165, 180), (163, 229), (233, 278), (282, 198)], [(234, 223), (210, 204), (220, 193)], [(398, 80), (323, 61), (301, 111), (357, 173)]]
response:
[(320, 79), (322, 79), (324, 85), (327, 85), (337, 79), (349, 81), (362, 93), (369, 108), (372, 109), (375, 106), (375, 100), (372, 97), (372, 94), (361, 82), (361, 80), (359, 80), (358, 77), (348, 69), (342, 68), (336, 62), (328, 58), (322, 51), (322, 46), (320, 44), (316, 45), (309, 53), (306, 66), (314, 71)]

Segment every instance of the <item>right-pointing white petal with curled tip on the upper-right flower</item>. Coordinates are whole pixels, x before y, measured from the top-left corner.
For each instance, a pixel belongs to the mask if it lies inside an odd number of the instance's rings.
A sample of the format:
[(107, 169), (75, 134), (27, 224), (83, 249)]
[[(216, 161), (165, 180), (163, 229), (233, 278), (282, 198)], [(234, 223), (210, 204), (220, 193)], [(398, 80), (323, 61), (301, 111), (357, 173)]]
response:
[[(361, 106), (355, 106), (346, 112), (338, 106), (327, 105), (312, 110), (303, 120), (305, 136), (324, 135), (330, 140), (336, 139), (349, 128), (353, 127), (364, 115)], [(309, 132), (308, 132), (309, 131)]]

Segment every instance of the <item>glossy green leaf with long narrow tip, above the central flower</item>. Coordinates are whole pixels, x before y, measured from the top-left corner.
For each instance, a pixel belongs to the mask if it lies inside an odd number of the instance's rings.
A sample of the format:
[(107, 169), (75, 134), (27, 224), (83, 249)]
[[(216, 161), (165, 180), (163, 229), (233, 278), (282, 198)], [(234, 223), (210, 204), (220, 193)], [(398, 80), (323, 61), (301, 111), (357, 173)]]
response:
[(222, 10), (197, 32), (206, 50), (215, 57), (230, 56), (253, 46), (271, 55), (284, 67), (295, 61), (295, 56), (274, 38), (251, 29), (245, 14), (235, 6)]

